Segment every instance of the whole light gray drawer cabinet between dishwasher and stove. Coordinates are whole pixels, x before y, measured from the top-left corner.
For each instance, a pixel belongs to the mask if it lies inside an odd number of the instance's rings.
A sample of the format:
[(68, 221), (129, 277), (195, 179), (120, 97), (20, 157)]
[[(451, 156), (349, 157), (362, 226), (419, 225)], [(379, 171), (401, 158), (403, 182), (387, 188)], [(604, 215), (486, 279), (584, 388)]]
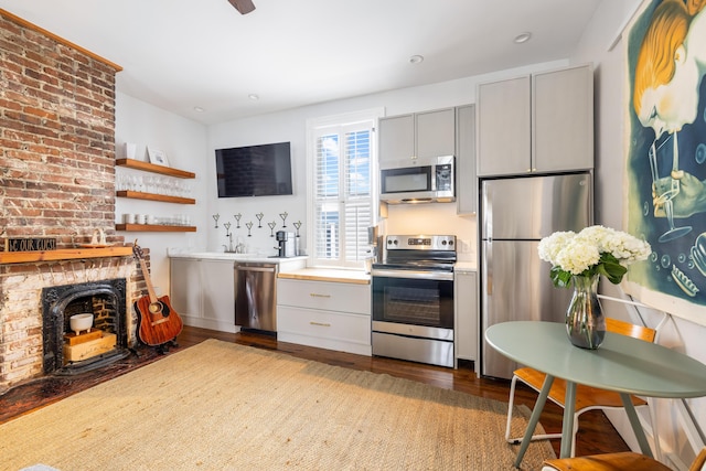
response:
[(277, 340), (372, 355), (371, 286), (278, 278)]

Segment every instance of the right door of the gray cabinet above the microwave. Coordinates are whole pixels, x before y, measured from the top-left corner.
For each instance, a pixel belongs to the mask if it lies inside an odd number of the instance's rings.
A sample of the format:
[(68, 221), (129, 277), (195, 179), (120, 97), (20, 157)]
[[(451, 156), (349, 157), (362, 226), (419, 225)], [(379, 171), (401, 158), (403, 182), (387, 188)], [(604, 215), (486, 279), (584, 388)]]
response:
[(456, 156), (456, 116), (453, 108), (418, 113), (416, 156), (418, 158)]

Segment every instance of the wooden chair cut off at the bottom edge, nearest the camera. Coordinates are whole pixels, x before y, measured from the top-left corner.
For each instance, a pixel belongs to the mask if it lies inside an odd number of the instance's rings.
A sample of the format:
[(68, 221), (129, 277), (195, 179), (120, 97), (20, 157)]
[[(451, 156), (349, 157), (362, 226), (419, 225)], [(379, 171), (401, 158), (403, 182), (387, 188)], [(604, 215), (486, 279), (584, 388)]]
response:
[[(644, 454), (624, 451), (620, 453), (593, 454), (580, 458), (546, 460), (542, 471), (671, 471), (661, 462)], [(696, 457), (688, 471), (706, 470), (706, 448)]]

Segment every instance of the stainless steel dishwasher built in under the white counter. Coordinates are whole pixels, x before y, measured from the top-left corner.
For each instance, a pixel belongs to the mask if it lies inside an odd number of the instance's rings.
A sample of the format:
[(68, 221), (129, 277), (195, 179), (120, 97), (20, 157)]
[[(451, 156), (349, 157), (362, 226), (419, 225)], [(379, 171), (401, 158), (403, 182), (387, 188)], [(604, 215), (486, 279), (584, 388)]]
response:
[(278, 264), (235, 263), (235, 324), (277, 332)]

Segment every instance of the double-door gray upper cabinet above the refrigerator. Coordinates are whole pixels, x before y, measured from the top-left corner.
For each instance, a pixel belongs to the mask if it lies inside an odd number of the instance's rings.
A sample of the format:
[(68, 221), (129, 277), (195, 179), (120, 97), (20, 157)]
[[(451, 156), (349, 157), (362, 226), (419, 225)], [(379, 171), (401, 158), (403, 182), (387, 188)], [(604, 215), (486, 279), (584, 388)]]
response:
[(478, 87), (479, 176), (593, 168), (590, 65)]

